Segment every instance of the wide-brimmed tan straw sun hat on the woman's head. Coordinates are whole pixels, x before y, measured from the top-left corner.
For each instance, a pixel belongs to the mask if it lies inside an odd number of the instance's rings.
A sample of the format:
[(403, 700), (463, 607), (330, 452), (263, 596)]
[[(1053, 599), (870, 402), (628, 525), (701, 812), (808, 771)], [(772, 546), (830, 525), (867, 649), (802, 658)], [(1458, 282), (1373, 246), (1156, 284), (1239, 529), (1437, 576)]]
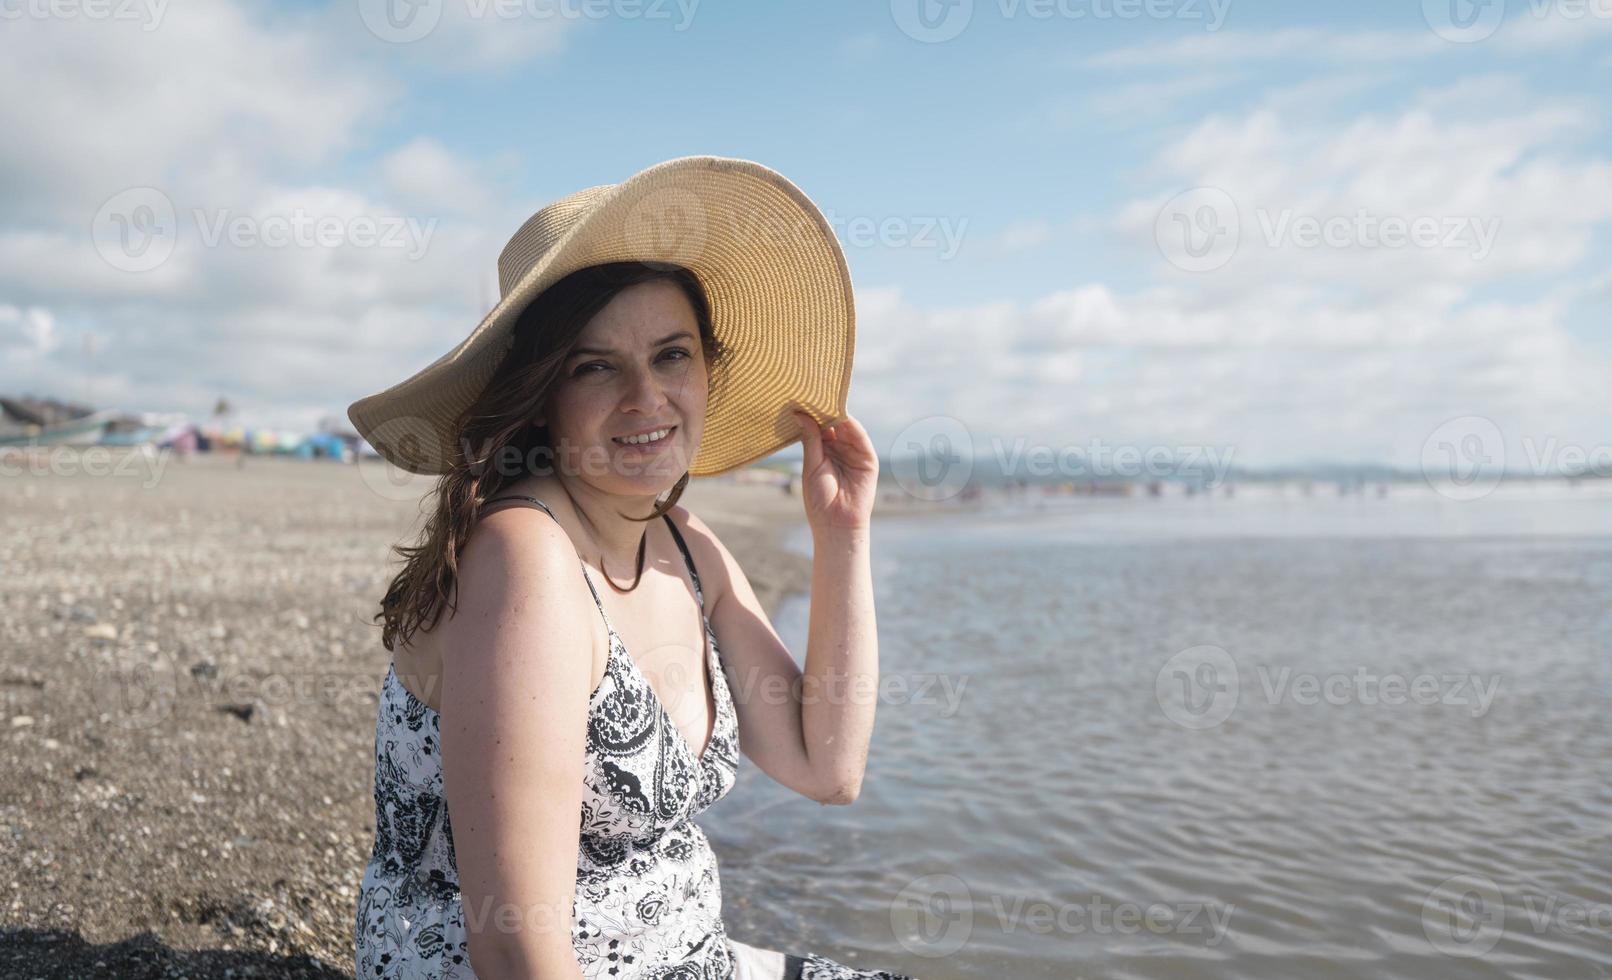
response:
[(706, 411), (690, 475), (727, 472), (798, 440), (791, 408), (821, 424), (845, 417), (856, 340), (845, 253), (795, 184), (725, 156), (667, 160), (542, 208), (500, 253), (501, 298), (471, 335), (347, 416), (388, 463), (447, 472), (455, 422), (514, 345), (521, 311), (577, 269), (627, 260), (688, 268), (733, 351), (727, 397)]

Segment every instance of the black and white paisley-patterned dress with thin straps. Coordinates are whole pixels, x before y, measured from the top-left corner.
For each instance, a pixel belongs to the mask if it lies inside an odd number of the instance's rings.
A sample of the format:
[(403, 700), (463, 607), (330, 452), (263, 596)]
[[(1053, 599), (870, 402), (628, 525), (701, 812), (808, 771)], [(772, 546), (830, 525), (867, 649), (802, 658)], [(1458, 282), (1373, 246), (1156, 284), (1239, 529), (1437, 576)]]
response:
[[(522, 500), (553, 511), (535, 496)], [(488, 501), (492, 503), (492, 501)], [(722, 927), (716, 854), (693, 816), (733, 788), (738, 719), (704, 593), (682, 534), (708, 643), (716, 727), (703, 754), (672, 724), (604, 616), (604, 679), (588, 701), (572, 943), (588, 980), (911, 980), (817, 954), (785, 954)], [(580, 559), (579, 559), (580, 561)], [(453, 825), (442, 790), (438, 714), (388, 669), (376, 717), (376, 841), (358, 895), (356, 975), (472, 980)]]

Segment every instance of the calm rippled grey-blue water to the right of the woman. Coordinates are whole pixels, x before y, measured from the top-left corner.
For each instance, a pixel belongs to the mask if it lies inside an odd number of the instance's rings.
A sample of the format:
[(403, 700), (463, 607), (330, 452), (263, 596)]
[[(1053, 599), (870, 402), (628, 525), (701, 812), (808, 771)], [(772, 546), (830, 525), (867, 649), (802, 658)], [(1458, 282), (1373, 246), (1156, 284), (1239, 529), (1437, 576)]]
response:
[(862, 795), (742, 764), (703, 820), (735, 936), (927, 980), (1612, 977), (1612, 498), (1064, 500), (874, 553)]

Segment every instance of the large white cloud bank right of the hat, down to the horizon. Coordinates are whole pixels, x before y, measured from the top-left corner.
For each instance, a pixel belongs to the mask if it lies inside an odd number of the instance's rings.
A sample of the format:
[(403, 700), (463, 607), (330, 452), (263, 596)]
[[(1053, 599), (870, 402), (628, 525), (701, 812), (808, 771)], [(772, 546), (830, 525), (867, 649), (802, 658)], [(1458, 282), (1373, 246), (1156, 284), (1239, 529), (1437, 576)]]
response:
[[(1612, 222), (1612, 164), (1570, 152), (1594, 122), (1572, 105), (1494, 100), (1489, 111), (1480, 98), (1478, 111), (1451, 98), (1501, 85), (1457, 81), (1343, 126), (1272, 108), (1203, 121), (1151, 161), (1164, 189), (1111, 216), (1157, 271), (1151, 285), (1086, 282), (964, 309), (864, 290), (858, 411), (883, 448), (949, 414), (975, 448), (1101, 435), (1233, 446), (1254, 466), (1415, 466), (1427, 437), (1467, 414), (1494, 419), (1514, 445), (1607, 442), (1612, 363), (1567, 324), (1612, 276), (1589, 250)], [(1164, 261), (1154, 229), (1161, 205), (1196, 185), (1225, 189), (1248, 214), (1232, 261), (1193, 274)], [(1261, 208), (1494, 216), (1499, 235), (1483, 260), (1270, 245), (1253, 219)], [(1536, 279), (1554, 285), (1527, 285)], [(1539, 295), (1486, 298), (1504, 284)]]

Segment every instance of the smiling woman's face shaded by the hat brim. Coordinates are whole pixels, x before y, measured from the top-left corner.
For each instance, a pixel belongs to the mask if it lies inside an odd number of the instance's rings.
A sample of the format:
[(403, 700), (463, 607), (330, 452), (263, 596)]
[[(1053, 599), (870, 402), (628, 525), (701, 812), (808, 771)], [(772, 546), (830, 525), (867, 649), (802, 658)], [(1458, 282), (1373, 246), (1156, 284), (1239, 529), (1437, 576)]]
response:
[[(700, 322), (683, 290), (630, 285), (588, 321), (561, 369), (546, 414), (556, 466), (606, 493), (659, 495), (693, 463), (706, 398)], [(645, 432), (659, 438), (624, 442)]]

